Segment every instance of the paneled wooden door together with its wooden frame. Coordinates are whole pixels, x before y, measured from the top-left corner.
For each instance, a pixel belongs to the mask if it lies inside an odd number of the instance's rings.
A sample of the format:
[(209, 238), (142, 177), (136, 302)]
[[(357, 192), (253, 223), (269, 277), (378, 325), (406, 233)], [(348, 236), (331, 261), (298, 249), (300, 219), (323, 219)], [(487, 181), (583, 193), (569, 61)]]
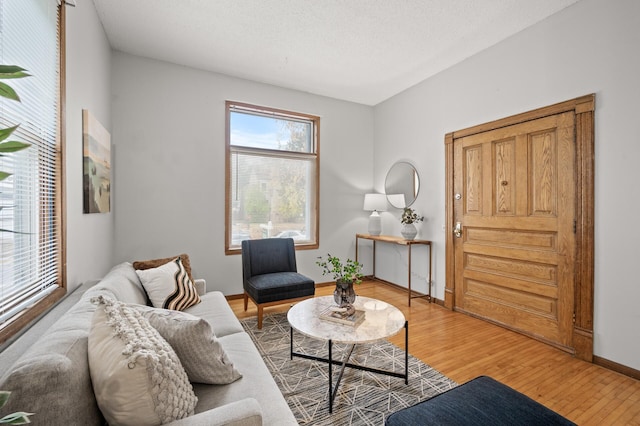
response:
[(445, 136), (444, 306), (585, 361), (593, 360), (594, 110), (587, 95)]

